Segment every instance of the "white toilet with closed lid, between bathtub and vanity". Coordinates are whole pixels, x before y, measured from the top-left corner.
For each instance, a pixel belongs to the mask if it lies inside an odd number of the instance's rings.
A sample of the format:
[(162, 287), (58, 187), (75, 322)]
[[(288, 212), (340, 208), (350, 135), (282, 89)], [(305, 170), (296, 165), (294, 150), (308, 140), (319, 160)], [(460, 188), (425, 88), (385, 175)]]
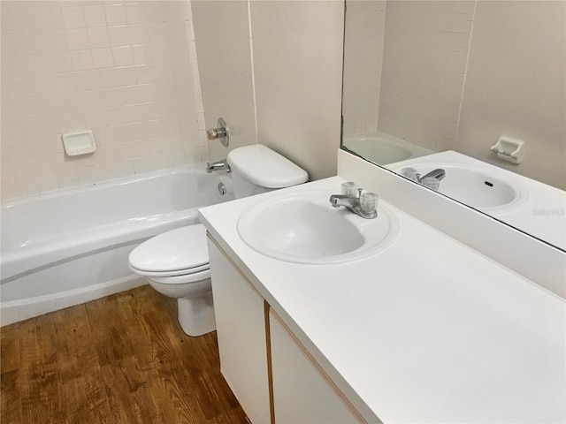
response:
[[(307, 172), (261, 144), (233, 149), (227, 157), (236, 199), (302, 184)], [(177, 299), (180, 326), (188, 336), (216, 329), (210, 263), (203, 224), (188, 225), (143, 242), (128, 259), (165, 296)]]

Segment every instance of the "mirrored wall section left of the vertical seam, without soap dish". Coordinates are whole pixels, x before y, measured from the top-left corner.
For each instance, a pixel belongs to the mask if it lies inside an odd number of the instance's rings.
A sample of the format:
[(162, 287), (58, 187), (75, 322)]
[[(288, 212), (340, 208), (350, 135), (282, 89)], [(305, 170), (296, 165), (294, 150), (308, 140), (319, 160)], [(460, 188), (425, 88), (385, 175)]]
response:
[(474, 4), (387, 2), (379, 131), (454, 148)]

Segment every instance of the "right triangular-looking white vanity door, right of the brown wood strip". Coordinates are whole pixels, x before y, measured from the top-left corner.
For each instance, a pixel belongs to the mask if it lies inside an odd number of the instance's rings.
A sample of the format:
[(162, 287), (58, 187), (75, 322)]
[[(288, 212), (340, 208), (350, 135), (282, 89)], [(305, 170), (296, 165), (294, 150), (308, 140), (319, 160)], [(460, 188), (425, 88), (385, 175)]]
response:
[(277, 424), (363, 422), (327, 375), (270, 311), (272, 375)]

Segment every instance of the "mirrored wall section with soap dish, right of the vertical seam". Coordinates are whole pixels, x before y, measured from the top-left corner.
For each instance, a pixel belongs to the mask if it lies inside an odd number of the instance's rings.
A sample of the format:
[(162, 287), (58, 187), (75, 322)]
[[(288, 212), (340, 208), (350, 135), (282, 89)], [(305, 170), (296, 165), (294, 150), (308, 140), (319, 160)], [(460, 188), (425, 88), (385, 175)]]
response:
[[(523, 163), (491, 153), (501, 135)], [(565, 2), (478, 2), (456, 148), (566, 189)]]

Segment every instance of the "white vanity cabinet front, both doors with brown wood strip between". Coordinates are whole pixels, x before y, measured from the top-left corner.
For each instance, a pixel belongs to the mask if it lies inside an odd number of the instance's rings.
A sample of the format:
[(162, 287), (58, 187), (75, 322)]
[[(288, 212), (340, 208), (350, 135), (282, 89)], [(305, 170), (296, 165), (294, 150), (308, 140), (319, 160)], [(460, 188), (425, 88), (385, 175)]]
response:
[(220, 367), (249, 420), (364, 422), (210, 236), (208, 246)]

